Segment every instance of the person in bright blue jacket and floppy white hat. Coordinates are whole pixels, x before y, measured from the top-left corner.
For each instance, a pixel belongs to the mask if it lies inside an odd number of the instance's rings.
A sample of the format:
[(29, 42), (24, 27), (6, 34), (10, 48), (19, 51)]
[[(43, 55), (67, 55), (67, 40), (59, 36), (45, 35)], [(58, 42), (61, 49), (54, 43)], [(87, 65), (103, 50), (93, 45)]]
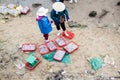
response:
[(41, 33), (43, 34), (45, 42), (48, 42), (49, 33), (52, 31), (51, 22), (46, 15), (47, 13), (48, 9), (45, 9), (44, 7), (39, 8), (36, 13), (36, 20), (38, 21), (38, 26)]

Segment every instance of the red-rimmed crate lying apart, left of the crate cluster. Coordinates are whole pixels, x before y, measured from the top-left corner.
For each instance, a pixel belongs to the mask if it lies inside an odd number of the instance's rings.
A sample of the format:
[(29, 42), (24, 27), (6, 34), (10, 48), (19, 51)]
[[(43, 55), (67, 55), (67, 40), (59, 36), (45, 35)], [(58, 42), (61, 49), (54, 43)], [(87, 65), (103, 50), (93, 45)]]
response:
[(23, 52), (33, 52), (36, 50), (36, 45), (34, 43), (25, 43), (22, 44), (21, 49)]

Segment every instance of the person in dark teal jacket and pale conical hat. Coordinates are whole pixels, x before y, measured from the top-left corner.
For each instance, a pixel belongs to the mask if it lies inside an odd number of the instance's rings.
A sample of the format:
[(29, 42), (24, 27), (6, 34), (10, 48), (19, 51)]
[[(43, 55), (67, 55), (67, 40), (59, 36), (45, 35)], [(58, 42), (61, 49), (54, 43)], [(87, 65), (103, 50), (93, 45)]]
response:
[(68, 21), (69, 14), (65, 5), (62, 2), (55, 2), (53, 4), (53, 9), (51, 10), (50, 17), (53, 19), (56, 28), (58, 30), (58, 36), (62, 33), (60, 28), (64, 31), (66, 36), (69, 36), (66, 31), (65, 20)]

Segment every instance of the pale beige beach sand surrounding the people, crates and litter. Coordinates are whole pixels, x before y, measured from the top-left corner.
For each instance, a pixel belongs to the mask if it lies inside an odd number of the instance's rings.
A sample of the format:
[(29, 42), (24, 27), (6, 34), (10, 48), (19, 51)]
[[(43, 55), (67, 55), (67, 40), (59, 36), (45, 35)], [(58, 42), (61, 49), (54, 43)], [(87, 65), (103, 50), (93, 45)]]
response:
[[(48, 62), (36, 51), (35, 55), (41, 59), (40, 65), (33, 71), (26, 69), (23, 76), (16, 74), (17, 68), (11, 57), (17, 56), (25, 63), (28, 53), (23, 53), (19, 49), (19, 45), (28, 42), (43, 44), (44, 39), (35, 20), (34, 10), (36, 9), (32, 9), (32, 12), (21, 17), (8, 15), (9, 21), (5, 24), (0, 23), (0, 80), (46, 80), (51, 72), (61, 69), (65, 70), (67, 75), (74, 77), (73, 79), (68, 77), (68, 80), (95, 80), (91, 77), (101, 74), (107, 77), (119, 76), (117, 71), (120, 70), (120, 6), (116, 6), (118, 1), (79, 0), (78, 3), (73, 4), (66, 1), (70, 21), (88, 26), (69, 28), (66, 22), (67, 29), (75, 34), (72, 40), (66, 39), (67, 42), (74, 41), (80, 46), (71, 54), (71, 63)], [(51, 9), (51, 6), (49, 8)], [(99, 19), (102, 9), (107, 10), (108, 13)], [(95, 18), (88, 16), (92, 10), (97, 11)], [(0, 16), (2, 17), (2, 15)], [(57, 37), (57, 30), (54, 24), (52, 25), (53, 31), (50, 33), (49, 40)], [(88, 58), (100, 57), (103, 59), (106, 55), (114, 59), (114, 65), (105, 65), (94, 75), (85, 73), (86, 70), (91, 70)]]

